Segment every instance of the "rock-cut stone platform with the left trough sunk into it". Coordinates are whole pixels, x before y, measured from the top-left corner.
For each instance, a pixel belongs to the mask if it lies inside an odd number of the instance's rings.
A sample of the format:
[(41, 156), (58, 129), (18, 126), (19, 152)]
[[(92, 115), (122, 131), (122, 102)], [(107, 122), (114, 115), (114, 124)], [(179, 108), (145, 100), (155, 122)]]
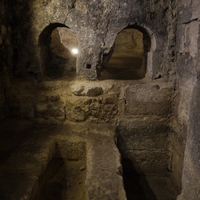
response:
[(115, 127), (92, 127), (40, 126), (26, 139), (23, 133), (17, 150), (0, 165), (1, 198), (40, 199), (49, 194), (52, 200), (125, 200)]

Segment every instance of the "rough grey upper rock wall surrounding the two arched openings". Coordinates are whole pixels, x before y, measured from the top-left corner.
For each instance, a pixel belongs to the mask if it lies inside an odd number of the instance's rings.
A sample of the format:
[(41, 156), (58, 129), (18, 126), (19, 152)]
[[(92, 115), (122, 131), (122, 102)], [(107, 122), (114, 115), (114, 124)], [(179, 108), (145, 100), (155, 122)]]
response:
[[(117, 34), (127, 26), (144, 28), (152, 39), (149, 75), (154, 78), (173, 74), (174, 1), (21, 1), (13, 8), (13, 44), (15, 74), (43, 74), (42, 33), (67, 26), (77, 34), (80, 54), (77, 72), (97, 77), (103, 54), (109, 52)], [(48, 42), (48, 41), (47, 41)], [(31, 48), (30, 48), (31, 47)], [(90, 65), (90, 69), (86, 66)]]

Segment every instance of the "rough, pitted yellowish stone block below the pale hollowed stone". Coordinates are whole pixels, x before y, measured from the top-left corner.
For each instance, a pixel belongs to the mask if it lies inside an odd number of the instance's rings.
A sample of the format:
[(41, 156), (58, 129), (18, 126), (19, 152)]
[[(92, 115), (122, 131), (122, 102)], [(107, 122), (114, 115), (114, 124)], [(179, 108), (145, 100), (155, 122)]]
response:
[(68, 99), (66, 102), (66, 118), (71, 121), (90, 120), (95, 123), (113, 122), (116, 120), (117, 95), (96, 98)]

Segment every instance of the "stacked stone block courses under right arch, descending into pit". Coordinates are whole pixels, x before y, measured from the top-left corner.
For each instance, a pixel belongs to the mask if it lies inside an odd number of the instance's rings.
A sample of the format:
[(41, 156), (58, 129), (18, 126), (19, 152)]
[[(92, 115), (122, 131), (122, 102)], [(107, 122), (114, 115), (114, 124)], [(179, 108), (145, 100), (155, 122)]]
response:
[(160, 82), (136, 83), (125, 89), (118, 142), (141, 174), (168, 176), (171, 172), (168, 123), (172, 94), (173, 88)]

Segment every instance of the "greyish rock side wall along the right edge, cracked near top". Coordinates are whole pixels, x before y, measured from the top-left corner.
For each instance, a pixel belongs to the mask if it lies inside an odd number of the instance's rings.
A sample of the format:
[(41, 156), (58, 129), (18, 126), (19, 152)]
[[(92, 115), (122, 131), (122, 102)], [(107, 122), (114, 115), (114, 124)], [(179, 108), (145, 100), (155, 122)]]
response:
[[(177, 74), (180, 100), (178, 123), (179, 143), (185, 147), (182, 194), (179, 199), (200, 199), (199, 189), (199, 47), (200, 2), (183, 0), (178, 6)], [(180, 146), (180, 145), (179, 145)], [(182, 147), (180, 147), (182, 149)], [(177, 160), (178, 164), (179, 160)]]

